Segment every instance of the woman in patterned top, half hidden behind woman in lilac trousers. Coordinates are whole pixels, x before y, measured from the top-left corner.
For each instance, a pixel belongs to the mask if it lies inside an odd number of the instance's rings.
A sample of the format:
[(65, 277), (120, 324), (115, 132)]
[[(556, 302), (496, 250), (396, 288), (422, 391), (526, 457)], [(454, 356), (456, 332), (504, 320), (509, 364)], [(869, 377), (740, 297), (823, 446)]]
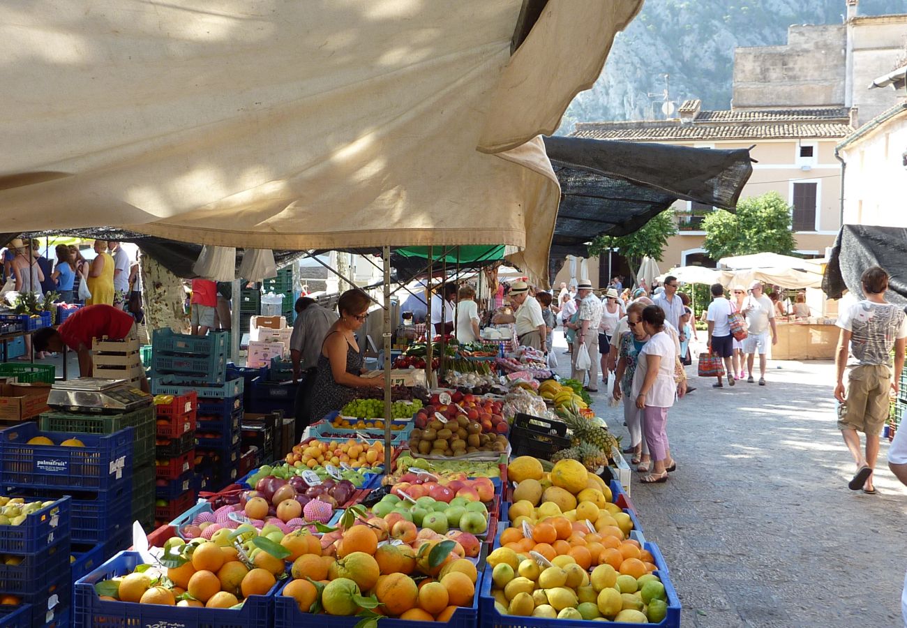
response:
[(649, 446), (642, 437), (642, 410), (636, 407), (636, 399), (631, 393), (639, 351), (649, 341), (649, 334), (642, 326), (642, 310), (646, 307), (645, 303), (640, 302), (629, 304), (629, 331), (621, 333), (614, 343), (618, 347), (618, 366), (614, 371), (613, 395), (615, 399), (623, 397), (624, 422), (629, 430), (629, 447), (623, 453), (632, 455), (630, 463), (639, 465), (638, 470), (642, 473), (649, 473)]

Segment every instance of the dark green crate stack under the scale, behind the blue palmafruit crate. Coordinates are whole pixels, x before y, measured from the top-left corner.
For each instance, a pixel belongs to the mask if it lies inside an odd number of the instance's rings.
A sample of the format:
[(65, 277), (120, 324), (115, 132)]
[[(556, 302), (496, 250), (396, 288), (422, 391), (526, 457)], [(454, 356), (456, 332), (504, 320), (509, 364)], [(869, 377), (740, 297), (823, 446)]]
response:
[(154, 447), (155, 416), (151, 396), (147, 404), (131, 412), (117, 414), (80, 414), (52, 411), (40, 417), (41, 429), (65, 434), (113, 434), (132, 427), (132, 520), (146, 529), (154, 524)]

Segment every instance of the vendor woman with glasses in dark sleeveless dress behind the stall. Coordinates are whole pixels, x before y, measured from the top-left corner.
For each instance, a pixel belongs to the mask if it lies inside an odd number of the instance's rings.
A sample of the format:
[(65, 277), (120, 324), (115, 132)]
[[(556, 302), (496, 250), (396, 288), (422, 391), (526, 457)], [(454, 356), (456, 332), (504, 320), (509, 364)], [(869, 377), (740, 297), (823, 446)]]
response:
[(318, 356), (312, 388), (313, 420), (320, 420), (329, 412), (346, 406), (356, 397), (356, 388), (375, 386), (375, 379), (360, 377), (366, 369), (354, 336), (366, 322), (369, 302), (366, 293), (358, 289), (346, 290), (337, 299), (340, 318), (327, 329)]

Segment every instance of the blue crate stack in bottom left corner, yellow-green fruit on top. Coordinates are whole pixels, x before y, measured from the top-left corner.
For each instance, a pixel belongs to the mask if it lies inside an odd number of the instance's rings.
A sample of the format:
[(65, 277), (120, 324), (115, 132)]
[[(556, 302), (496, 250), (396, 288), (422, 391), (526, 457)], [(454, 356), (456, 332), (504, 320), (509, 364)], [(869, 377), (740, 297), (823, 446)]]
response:
[[(0, 497), (0, 507), (18, 508), (19, 525), (0, 525), (0, 625), (70, 625), (69, 497), (58, 500)], [(37, 503), (35, 503), (37, 502)]]

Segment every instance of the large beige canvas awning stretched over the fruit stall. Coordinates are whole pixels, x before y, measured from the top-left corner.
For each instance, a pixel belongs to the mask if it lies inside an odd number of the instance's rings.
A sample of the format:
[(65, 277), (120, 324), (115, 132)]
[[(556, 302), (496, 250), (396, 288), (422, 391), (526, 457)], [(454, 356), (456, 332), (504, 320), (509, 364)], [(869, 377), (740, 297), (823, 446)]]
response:
[(0, 231), (258, 249), (507, 244), (543, 277), (540, 133), (642, 0), (9, 0)]

